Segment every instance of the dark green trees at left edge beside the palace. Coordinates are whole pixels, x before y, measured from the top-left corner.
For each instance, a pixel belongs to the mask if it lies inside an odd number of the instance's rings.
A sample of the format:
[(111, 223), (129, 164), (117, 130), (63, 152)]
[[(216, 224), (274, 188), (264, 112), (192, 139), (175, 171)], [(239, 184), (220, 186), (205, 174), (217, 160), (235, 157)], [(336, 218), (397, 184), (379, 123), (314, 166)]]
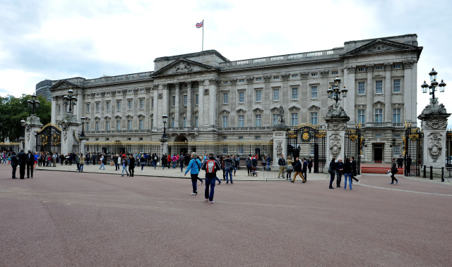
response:
[[(23, 94), (22, 97), (13, 97), (8, 95), (0, 97), (0, 142), (9, 138), (11, 142), (18, 142), (20, 135), (24, 134), (23, 126), (20, 120), (27, 120), (32, 108), (28, 107), (27, 100), (29, 94)], [(40, 107), (35, 109), (43, 125), (50, 123), (52, 116), (52, 104), (44, 97), (37, 97), (40, 101)]]

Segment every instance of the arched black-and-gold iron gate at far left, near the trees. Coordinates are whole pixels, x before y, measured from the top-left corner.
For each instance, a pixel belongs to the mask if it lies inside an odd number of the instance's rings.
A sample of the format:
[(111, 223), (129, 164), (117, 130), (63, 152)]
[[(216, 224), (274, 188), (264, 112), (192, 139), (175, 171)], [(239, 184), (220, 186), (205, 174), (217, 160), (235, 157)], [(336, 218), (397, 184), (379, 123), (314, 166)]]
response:
[(61, 152), (61, 130), (53, 124), (45, 125), (36, 133), (36, 151)]

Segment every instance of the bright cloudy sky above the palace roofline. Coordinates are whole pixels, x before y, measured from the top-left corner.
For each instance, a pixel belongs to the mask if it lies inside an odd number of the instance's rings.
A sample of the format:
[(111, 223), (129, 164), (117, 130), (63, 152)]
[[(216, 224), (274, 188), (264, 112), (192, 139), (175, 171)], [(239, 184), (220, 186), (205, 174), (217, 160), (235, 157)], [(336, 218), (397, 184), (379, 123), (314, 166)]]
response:
[[(326, 50), (344, 42), (417, 34), (417, 113), (434, 67), (452, 113), (452, 1), (0, 0), (0, 95), (41, 80), (153, 70), (153, 60), (215, 49), (230, 60)], [(452, 118), (449, 120), (452, 125)], [(450, 127), (450, 126), (449, 126)]]

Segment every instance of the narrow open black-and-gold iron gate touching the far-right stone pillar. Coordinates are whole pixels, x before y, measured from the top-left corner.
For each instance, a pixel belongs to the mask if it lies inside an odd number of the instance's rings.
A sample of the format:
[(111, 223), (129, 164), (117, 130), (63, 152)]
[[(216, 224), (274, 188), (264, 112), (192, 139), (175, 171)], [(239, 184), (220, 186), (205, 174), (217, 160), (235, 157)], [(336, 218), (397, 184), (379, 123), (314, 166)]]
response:
[(420, 176), (422, 167), (422, 138), (424, 133), (420, 128), (412, 128), (411, 123), (405, 125), (403, 142), (405, 149), (405, 176)]

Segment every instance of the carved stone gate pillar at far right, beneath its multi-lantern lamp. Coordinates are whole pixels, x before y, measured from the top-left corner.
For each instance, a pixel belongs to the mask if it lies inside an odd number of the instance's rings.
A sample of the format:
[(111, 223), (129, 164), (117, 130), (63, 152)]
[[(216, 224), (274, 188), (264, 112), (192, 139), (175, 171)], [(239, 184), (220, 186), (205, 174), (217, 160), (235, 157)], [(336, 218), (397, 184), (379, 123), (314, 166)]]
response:
[[(423, 165), (429, 168), (444, 167), (446, 162), (446, 128), (448, 117), (443, 104), (438, 98), (430, 99), (430, 104), (424, 108), (417, 118), (421, 120), (424, 139), (422, 141)], [(436, 170), (441, 171), (441, 170)]]

